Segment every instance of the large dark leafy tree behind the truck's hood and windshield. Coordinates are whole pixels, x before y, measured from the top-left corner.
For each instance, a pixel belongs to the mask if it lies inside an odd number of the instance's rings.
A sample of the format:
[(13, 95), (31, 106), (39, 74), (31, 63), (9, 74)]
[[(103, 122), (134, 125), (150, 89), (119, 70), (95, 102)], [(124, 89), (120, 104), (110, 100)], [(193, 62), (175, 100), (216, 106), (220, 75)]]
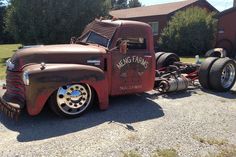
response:
[(68, 43), (110, 5), (110, 0), (11, 0), (6, 30), (23, 44)]

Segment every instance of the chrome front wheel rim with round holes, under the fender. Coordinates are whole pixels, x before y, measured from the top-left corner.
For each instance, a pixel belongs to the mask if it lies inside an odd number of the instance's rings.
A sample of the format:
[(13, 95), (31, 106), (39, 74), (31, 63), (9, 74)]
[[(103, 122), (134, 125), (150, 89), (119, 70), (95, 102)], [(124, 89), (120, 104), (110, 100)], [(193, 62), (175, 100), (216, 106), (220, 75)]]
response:
[(57, 105), (68, 115), (82, 113), (90, 104), (91, 89), (85, 84), (62, 86), (57, 92)]

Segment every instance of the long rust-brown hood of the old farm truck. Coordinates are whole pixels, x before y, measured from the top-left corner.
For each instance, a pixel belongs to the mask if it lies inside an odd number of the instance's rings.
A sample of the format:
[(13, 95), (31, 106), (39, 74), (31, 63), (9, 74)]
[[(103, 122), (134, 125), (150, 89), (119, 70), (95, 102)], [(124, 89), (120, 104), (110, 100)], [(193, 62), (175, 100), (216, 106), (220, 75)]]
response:
[(31, 64), (68, 63), (88, 64), (88, 60), (101, 60), (106, 49), (99, 45), (50, 45), (33, 46), (18, 50), (11, 58), (13, 71), (21, 71)]

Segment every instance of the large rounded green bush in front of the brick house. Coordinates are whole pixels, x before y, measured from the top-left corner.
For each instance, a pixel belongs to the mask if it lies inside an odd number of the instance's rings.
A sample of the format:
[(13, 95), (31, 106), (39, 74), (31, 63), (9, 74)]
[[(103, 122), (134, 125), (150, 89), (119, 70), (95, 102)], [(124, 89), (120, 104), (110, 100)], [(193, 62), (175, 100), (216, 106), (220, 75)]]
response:
[(177, 12), (160, 36), (161, 49), (179, 55), (203, 55), (215, 40), (217, 20), (213, 17), (214, 13), (198, 7)]

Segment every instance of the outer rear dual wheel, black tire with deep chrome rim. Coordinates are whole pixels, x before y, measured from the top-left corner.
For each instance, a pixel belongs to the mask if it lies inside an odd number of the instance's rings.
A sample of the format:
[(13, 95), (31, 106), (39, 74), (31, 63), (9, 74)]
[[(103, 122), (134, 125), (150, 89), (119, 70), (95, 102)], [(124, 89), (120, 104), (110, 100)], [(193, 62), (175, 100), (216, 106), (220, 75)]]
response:
[(220, 58), (210, 70), (209, 82), (213, 90), (229, 91), (236, 80), (236, 63), (229, 58)]

